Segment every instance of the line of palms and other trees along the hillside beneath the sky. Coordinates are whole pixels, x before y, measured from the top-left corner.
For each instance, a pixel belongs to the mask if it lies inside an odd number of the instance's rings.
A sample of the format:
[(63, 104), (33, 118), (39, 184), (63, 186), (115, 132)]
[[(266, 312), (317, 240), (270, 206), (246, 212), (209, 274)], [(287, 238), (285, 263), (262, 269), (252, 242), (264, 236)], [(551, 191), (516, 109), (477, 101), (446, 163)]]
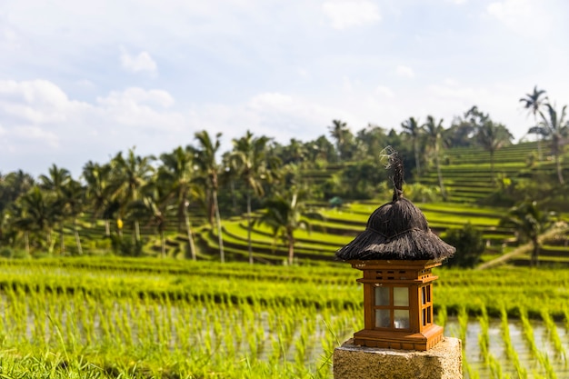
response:
[[(534, 116), (535, 125), (528, 132), (540, 142), (550, 142), (563, 185), (560, 157), (569, 129), (566, 105), (557, 113), (537, 87), (520, 101)], [(220, 151), (221, 134), (203, 130), (195, 133), (193, 144), (158, 156), (138, 155), (133, 147), (106, 163), (89, 161), (75, 178), (57, 165), (37, 178), (21, 170), (0, 174), (0, 248), (66, 254), (68, 233), (74, 236), (73, 253), (83, 254), (78, 223), (90, 218), (103, 220), (103, 237), (115, 251), (132, 255), (141, 254), (141, 224), (155, 230), (163, 255), (166, 227), (175, 225), (185, 235), (187, 256), (196, 259), (195, 220), (215, 228), (223, 262), (222, 213), (224, 217), (244, 214), (249, 261), (253, 263), (251, 229), (258, 222), (287, 241), (292, 262), (294, 230), (304, 225), (307, 204), (366, 199), (382, 192), (388, 178), (380, 152), (387, 145), (405, 157), (408, 181), (418, 182), (425, 166), (433, 166), (443, 200), (447, 198), (440, 169), (444, 149), (482, 146), (491, 156), (494, 176), (495, 151), (514, 138), (508, 129), (477, 106), (455, 117), (448, 128), (443, 123), (432, 115), (424, 123), (409, 117), (399, 132), (370, 124), (354, 134), (345, 122), (334, 120), (327, 135), (308, 142), (293, 138), (288, 144), (246, 131), (227, 152)], [(331, 174), (317, 180), (317, 174), (326, 170)], [(261, 215), (260, 210), (264, 210)], [(130, 238), (124, 237), (125, 230)]]

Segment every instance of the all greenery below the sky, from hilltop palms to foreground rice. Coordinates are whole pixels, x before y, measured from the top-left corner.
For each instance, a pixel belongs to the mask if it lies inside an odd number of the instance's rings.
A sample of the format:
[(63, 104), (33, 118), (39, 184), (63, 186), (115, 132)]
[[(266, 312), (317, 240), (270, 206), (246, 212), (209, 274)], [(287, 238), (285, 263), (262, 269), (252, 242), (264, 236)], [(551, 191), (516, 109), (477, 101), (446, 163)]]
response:
[(246, 132), (223, 154), (201, 131), (76, 178), (0, 175), (0, 376), (329, 377), (362, 322), (359, 273), (334, 252), (390, 200), (387, 145), (434, 232), (473, 247), (449, 265), (510, 263), (437, 269), (437, 324), (463, 339), (465, 376), (567, 376), (569, 125), (537, 88), (521, 102), (535, 142), (512, 145), (474, 106), (446, 129), (334, 120), (331, 140)]

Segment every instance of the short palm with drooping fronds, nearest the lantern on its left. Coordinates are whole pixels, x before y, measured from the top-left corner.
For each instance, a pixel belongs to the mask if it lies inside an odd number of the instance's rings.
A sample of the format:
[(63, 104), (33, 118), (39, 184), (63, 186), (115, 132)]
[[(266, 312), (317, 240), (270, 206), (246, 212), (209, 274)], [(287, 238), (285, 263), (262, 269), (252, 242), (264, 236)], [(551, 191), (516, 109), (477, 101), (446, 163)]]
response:
[(288, 264), (294, 260), (294, 231), (306, 227), (302, 220), (304, 212), (304, 191), (292, 187), (284, 195), (275, 195), (265, 203), (265, 213), (258, 222), (273, 230), (274, 237), (282, 236), (288, 246)]

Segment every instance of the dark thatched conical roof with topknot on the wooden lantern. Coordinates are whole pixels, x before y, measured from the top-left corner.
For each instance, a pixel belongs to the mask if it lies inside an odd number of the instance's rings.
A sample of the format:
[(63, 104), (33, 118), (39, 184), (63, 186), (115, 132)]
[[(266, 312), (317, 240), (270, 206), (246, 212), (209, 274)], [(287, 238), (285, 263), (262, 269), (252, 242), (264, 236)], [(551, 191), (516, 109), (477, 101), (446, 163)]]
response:
[(403, 163), (390, 155), (394, 169), (394, 198), (375, 209), (364, 232), (336, 252), (344, 261), (401, 259), (441, 262), (454, 255), (454, 247), (431, 232), (424, 214), (403, 197)]

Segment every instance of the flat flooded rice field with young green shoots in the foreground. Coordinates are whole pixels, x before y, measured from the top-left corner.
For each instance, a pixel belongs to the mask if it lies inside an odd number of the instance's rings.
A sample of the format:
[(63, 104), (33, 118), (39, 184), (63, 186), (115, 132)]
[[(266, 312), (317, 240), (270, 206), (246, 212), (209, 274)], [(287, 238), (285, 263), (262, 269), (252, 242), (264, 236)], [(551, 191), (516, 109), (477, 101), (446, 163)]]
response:
[[(0, 261), (0, 377), (330, 378), (359, 272), (160, 259)], [(465, 378), (569, 377), (569, 273), (441, 269)]]

